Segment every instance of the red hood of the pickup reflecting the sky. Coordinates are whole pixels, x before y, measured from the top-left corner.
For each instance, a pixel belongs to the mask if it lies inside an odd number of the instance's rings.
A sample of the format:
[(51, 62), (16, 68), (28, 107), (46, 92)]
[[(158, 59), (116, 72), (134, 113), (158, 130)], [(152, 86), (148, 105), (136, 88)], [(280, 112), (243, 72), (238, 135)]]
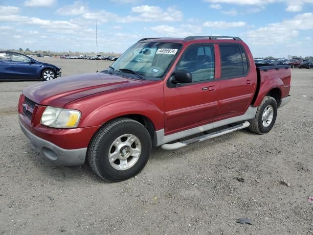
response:
[(140, 83), (134, 79), (97, 72), (40, 82), (25, 88), (22, 93), (38, 104), (64, 107), (68, 102), (91, 94)]

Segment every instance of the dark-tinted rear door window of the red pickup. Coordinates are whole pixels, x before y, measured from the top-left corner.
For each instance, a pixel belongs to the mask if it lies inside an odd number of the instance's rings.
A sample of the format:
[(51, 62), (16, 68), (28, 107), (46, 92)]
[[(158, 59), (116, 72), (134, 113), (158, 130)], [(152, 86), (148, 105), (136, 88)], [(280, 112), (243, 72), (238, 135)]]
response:
[(240, 45), (220, 45), (222, 78), (238, 77), (246, 74), (248, 63)]

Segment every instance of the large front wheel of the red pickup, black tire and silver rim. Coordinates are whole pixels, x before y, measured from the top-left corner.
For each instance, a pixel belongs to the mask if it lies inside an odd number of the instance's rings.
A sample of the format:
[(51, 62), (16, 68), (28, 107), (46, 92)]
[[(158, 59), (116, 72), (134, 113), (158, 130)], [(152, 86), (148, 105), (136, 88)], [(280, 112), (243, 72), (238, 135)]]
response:
[[(127, 180), (147, 164), (151, 145), (150, 134), (142, 124), (130, 118), (117, 118), (101, 127), (90, 141), (89, 165), (106, 181)], [(110, 163), (109, 158), (116, 160)]]

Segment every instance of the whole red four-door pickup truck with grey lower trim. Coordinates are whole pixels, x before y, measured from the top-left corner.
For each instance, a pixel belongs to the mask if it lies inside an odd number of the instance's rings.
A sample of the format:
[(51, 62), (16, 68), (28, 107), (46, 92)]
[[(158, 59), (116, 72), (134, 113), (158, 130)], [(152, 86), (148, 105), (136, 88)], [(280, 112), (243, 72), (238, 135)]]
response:
[(290, 83), (289, 65), (255, 64), (237, 37), (144, 38), (105, 71), (24, 89), (19, 122), (46, 158), (88, 160), (116, 182), (145, 166), (152, 145), (177, 149), (246, 127), (269, 132)]

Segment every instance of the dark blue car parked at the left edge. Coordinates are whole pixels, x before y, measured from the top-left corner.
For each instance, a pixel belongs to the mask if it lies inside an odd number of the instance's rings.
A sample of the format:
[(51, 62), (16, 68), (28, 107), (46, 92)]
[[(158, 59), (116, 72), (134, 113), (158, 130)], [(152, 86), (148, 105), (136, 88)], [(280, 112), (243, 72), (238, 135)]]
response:
[(1, 80), (52, 80), (61, 76), (61, 68), (39, 62), (17, 52), (0, 51)]

